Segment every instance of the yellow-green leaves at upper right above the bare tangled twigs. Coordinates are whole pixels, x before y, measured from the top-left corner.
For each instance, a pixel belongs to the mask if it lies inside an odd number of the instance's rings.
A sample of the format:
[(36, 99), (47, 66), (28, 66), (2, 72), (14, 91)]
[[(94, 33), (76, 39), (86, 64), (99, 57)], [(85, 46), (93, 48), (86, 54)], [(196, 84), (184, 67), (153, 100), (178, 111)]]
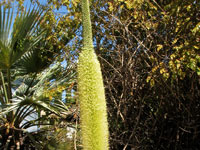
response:
[[(117, 0), (108, 4), (108, 11), (111, 12), (117, 12), (119, 7), (122, 12), (128, 10), (134, 17), (134, 28), (142, 29), (140, 33), (148, 34), (154, 39), (154, 41), (151, 40), (152, 46), (148, 48), (156, 53), (156, 55), (150, 54), (154, 66), (147, 77), (147, 81), (151, 82), (152, 86), (159, 72), (166, 80), (170, 75), (174, 79), (176, 77), (184, 79), (185, 74), (190, 70), (199, 74), (200, 28), (197, 14), (200, 8), (198, 1)], [(119, 18), (121, 21), (126, 19), (124, 15)], [(149, 40), (148, 38), (148, 43)], [(168, 62), (168, 64), (163, 64), (163, 62)]]

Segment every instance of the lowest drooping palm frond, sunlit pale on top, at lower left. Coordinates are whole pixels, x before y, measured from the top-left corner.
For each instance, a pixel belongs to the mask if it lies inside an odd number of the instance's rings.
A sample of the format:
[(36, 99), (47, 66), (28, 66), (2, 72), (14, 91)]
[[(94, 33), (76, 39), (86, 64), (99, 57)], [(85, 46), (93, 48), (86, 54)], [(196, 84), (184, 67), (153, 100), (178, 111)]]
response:
[(32, 120), (32, 124), (38, 123), (36, 120), (39, 119), (37, 110), (45, 110), (46, 112), (53, 113), (60, 116), (62, 112), (68, 111), (66, 105), (60, 101), (55, 100), (54, 102), (38, 98), (32, 99), (30, 97), (15, 97), (10, 104), (0, 105), (0, 116), (4, 116), (9, 112), (15, 112), (14, 122), (16, 126), (19, 126), (25, 118), (35, 115), (35, 121)]

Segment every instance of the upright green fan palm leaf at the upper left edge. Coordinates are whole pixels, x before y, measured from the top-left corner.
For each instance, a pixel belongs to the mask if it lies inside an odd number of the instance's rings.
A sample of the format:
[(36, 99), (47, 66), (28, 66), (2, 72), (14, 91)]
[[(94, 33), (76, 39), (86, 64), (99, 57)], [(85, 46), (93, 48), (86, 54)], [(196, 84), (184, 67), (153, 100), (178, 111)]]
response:
[(39, 8), (29, 8), (18, 12), (13, 21), (13, 10), (0, 7), (0, 69), (10, 69), (42, 38), (43, 31), (37, 30), (42, 13)]

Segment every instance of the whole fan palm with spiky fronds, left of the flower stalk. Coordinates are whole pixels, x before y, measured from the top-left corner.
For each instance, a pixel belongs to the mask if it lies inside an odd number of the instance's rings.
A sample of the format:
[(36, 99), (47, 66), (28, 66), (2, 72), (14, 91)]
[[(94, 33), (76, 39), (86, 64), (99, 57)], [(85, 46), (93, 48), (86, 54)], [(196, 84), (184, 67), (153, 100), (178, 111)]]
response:
[[(42, 54), (38, 47), (45, 36), (41, 9), (29, 8), (13, 16), (13, 9), (0, 8), (0, 149), (41, 149), (34, 138), (37, 132), (27, 129), (50, 125), (49, 115), (62, 116), (68, 110), (61, 100), (49, 98), (48, 91), (72, 84), (75, 72), (61, 70), (59, 63), (48, 67), (42, 58), (48, 53)], [(64, 79), (47, 82), (61, 71)]]

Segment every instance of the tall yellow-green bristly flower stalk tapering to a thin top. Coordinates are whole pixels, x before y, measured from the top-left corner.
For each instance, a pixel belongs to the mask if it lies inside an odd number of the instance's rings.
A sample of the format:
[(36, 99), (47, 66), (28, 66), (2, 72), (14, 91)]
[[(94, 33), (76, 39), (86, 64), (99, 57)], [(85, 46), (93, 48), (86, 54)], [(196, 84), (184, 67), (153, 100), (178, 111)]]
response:
[(108, 150), (107, 109), (102, 73), (94, 52), (89, 1), (82, 0), (83, 48), (79, 55), (78, 91), (85, 150)]

